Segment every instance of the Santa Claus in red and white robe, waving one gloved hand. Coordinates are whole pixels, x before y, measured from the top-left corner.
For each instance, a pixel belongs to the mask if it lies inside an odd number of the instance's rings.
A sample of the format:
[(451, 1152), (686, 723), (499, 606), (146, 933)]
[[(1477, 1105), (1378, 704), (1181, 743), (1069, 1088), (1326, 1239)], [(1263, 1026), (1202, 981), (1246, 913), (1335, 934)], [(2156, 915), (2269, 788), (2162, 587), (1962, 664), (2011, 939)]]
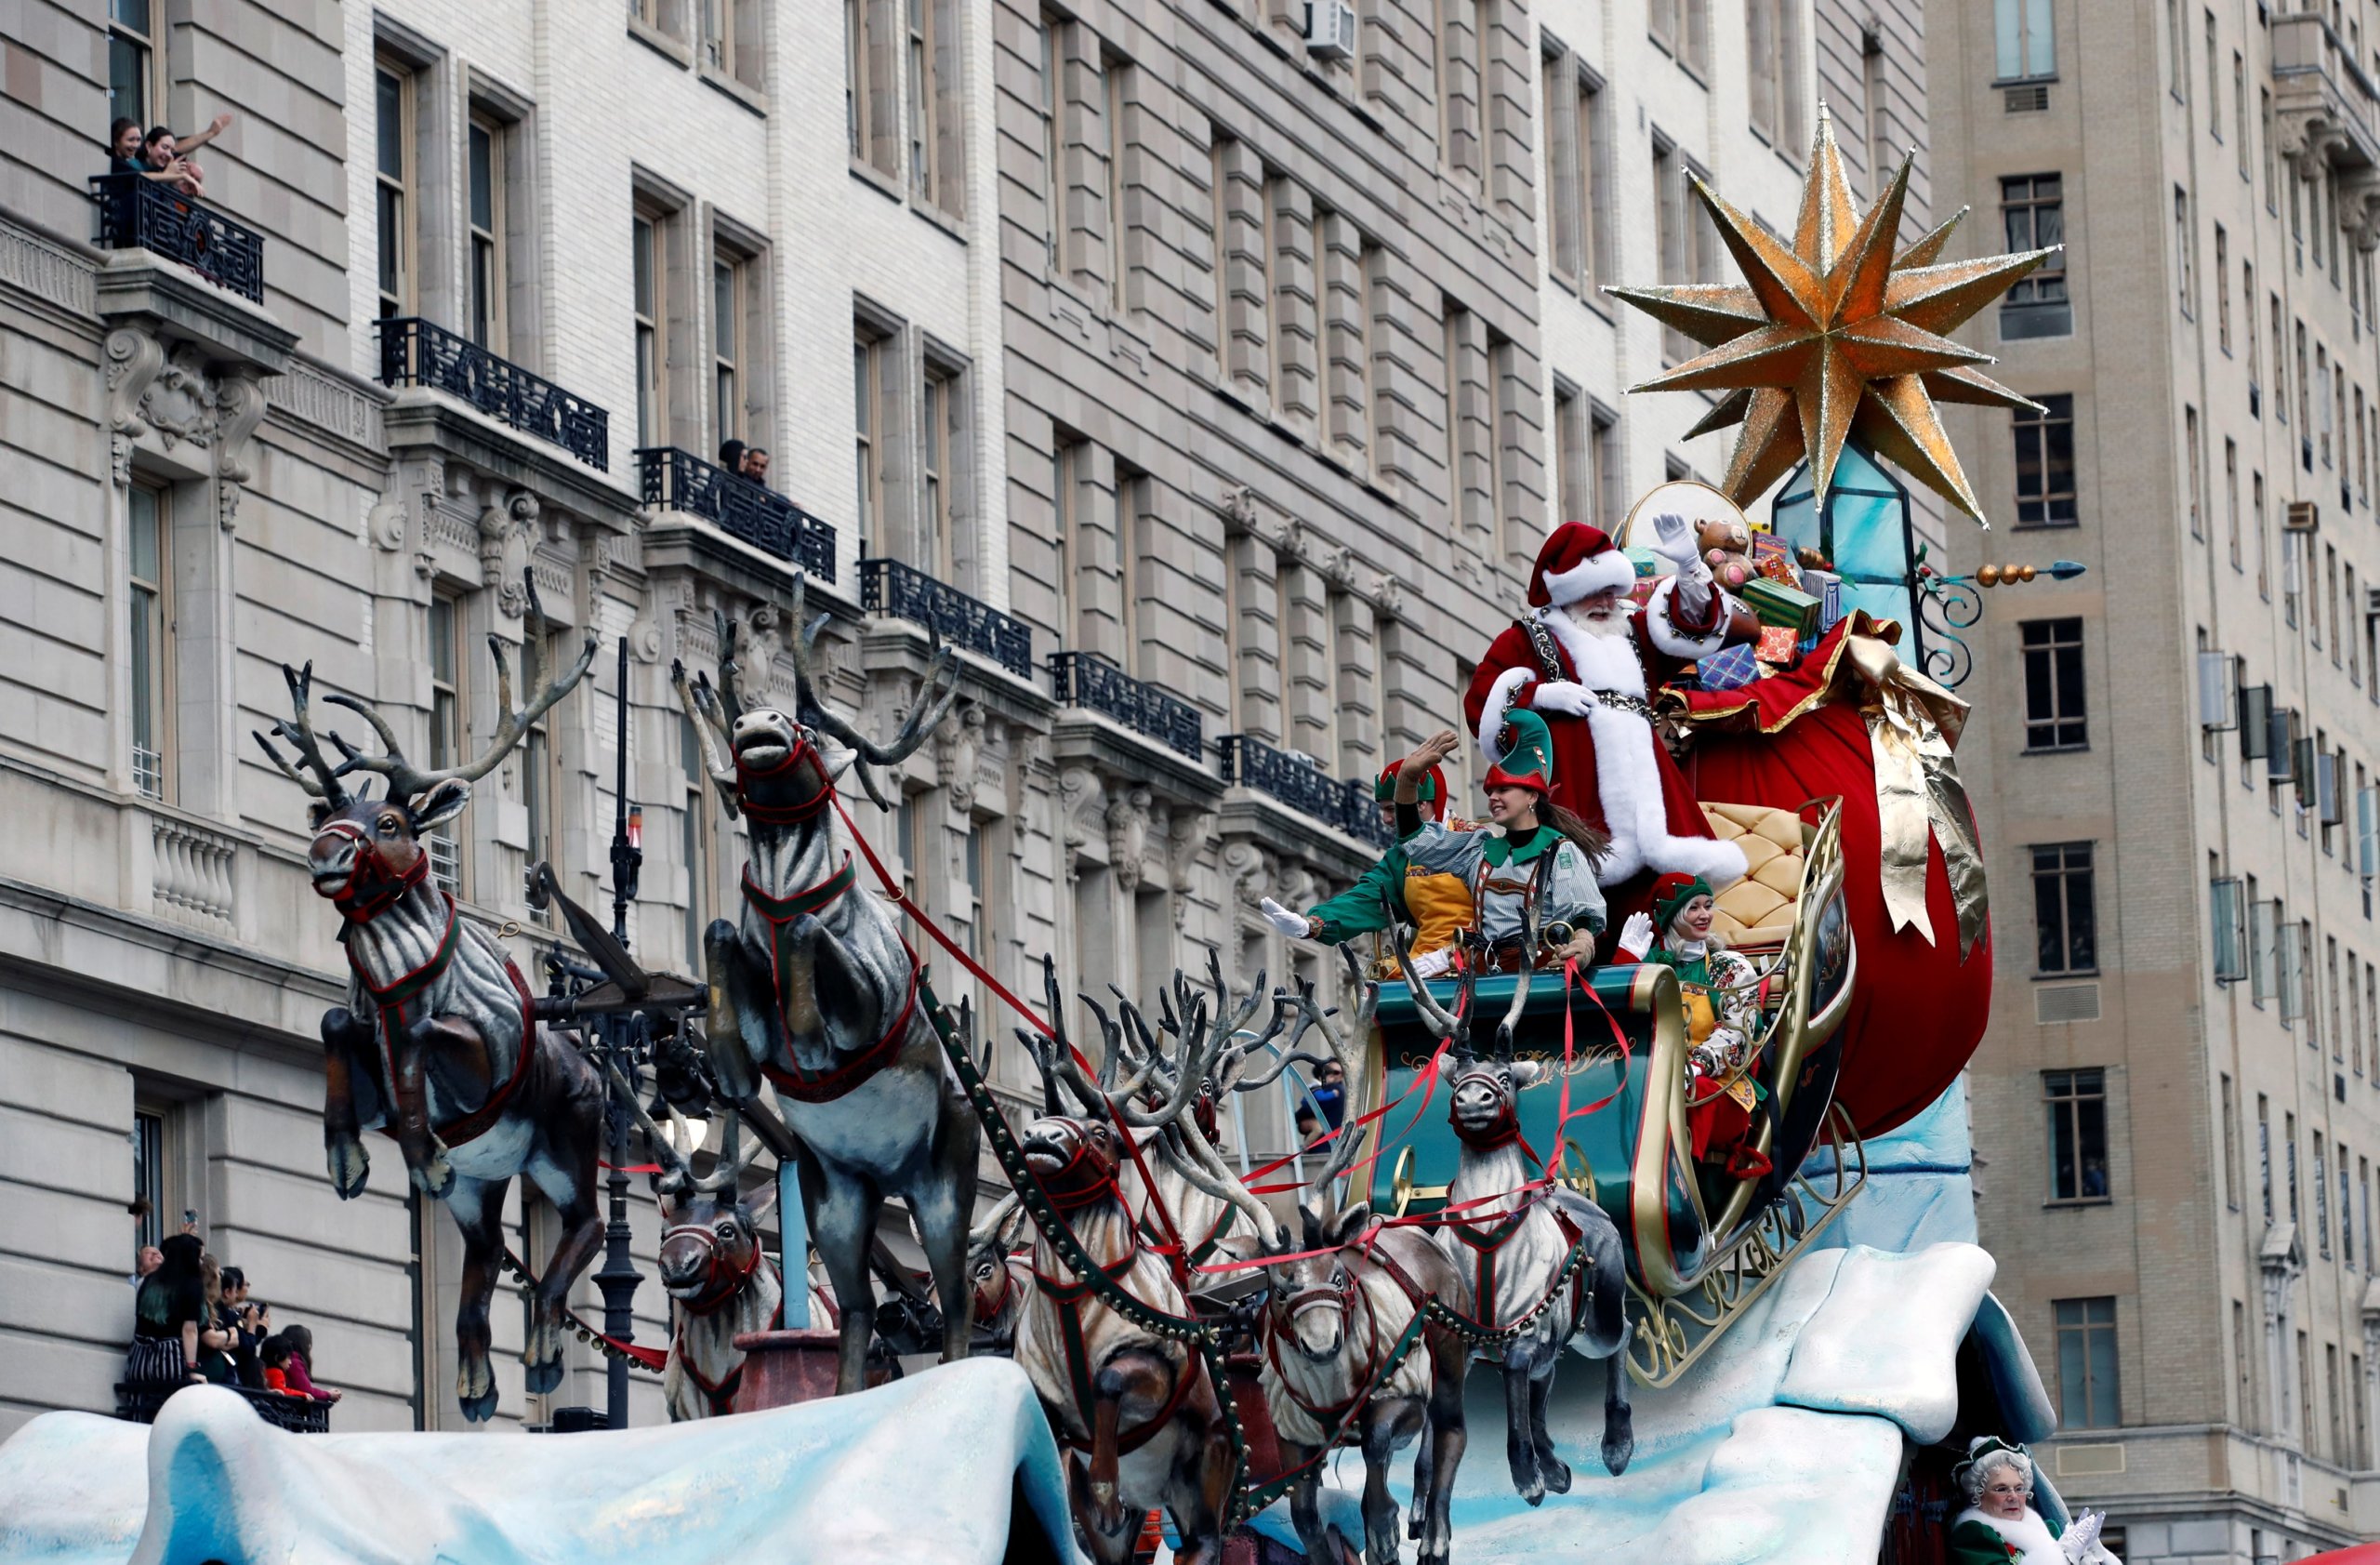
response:
[[(1652, 727), (1652, 693), (1726, 646), (1728, 607), (1692, 529), (1666, 529), (1678, 562), (1640, 607), (1635, 567), (1599, 526), (1564, 522), (1528, 574), (1530, 612), (1495, 638), (1464, 696), (1488, 760), (1504, 712), (1528, 707), (1554, 731), (1554, 803), (1611, 838), (1595, 877), (1616, 889), (1614, 915), (1659, 874), (1726, 886), (1745, 855), (1711, 836), (1702, 805)], [(1633, 881), (1633, 884), (1630, 884)]]

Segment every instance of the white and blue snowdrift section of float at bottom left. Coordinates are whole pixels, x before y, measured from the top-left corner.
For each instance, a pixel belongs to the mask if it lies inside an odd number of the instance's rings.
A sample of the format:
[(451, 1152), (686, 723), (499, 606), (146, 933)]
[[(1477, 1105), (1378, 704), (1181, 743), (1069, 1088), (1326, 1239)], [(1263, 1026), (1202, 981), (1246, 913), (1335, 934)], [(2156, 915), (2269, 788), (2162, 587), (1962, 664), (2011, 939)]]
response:
[(1057, 1446), (1004, 1360), (833, 1403), (569, 1436), (298, 1436), (193, 1386), (155, 1429), (52, 1413), (0, 1446), (12, 1565), (1071, 1558)]

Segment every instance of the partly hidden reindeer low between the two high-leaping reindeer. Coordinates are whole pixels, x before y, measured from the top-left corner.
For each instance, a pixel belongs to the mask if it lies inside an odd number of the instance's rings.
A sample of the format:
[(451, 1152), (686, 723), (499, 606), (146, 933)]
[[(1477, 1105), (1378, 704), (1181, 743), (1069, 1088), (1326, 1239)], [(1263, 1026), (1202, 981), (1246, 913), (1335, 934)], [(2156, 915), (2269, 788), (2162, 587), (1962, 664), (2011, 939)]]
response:
[[(709, 1174), (695, 1174), (693, 1153), (700, 1136), (678, 1110), (669, 1110), (664, 1131), (635, 1103), (635, 1089), (614, 1079), (619, 1096), (635, 1105), (662, 1172), (652, 1189), (662, 1198), (662, 1289), (669, 1293), (669, 1363), (662, 1367), (662, 1401), (669, 1422), (724, 1417), (735, 1410), (743, 1384), (743, 1348), (738, 1332), (774, 1332), (785, 1317), (785, 1286), (759, 1248), (759, 1220), (774, 1196), (745, 1203), (738, 1184), (759, 1143), (740, 1151), (740, 1122), (728, 1112), (719, 1162)], [(674, 1134), (676, 1131), (676, 1134)], [(683, 1143), (681, 1143), (683, 1139)]]

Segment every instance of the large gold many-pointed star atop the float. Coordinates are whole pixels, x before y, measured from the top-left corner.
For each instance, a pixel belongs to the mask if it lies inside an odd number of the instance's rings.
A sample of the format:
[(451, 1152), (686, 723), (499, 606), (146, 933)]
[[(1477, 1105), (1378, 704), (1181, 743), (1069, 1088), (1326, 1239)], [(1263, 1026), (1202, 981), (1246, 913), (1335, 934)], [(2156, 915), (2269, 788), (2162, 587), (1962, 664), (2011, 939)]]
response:
[(1823, 495), (1844, 438), (1859, 436), (1868, 450), (1983, 522), (1935, 403), (2035, 403), (1975, 369), (1992, 355), (1944, 333), (2059, 245), (1942, 262), (1949, 231), (1966, 217), (1961, 207), (1894, 252), (1914, 157), (1902, 157), (1883, 200), (1859, 217), (1842, 176), (1842, 152), (1835, 150), (1835, 126), (1821, 102), (1790, 248), (1687, 176), (1735, 255), (1745, 286), (1604, 288), (1709, 348), (1630, 391), (1726, 393), (1687, 438), (1745, 426), (1721, 481), (1737, 505), (1756, 500), (1802, 460), (1809, 462), (1811, 493)]

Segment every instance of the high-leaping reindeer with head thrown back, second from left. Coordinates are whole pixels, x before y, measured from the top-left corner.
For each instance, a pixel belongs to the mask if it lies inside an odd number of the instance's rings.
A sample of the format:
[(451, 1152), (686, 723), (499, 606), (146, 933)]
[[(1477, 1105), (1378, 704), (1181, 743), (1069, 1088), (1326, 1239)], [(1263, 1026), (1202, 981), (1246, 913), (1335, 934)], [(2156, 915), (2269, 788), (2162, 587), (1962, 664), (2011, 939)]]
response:
[[(835, 1391), (845, 1393), (866, 1384), (876, 1329), (869, 1241), (888, 1193), (907, 1198), (942, 1298), (942, 1360), (966, 1358), (966, 1217), (981, 1129), (919, 1005), (919, 962), (897, 917), (881, 898), (854, 893), (852, 858), (835, 848), (828, 824), (843, 769), (857, 767), (881, 800), (869, 767), (900, 765), (933, 734), (957, 698), (957, 665), (938, 638), (909, 719), (892, 743), (878, 746), (828, 712), (812, 688), (809, 648), (826, 617), (804, 624), (804, 596), (795, 574), (800, 717), (754, 700), (724, 617), (719, 684), (690, 684), (683, 665), (671, 665), (671, 679), (702, 736), (719, 798), (752, 831), (743, 919), (714, 919), (702, 941), (712, 1074), (735, 1103), (752, 1103), (769, 1079), (800, 1139), (802, 1201), (843, 1301)], [(850, 755), (828, 765), (819, 734)]]

